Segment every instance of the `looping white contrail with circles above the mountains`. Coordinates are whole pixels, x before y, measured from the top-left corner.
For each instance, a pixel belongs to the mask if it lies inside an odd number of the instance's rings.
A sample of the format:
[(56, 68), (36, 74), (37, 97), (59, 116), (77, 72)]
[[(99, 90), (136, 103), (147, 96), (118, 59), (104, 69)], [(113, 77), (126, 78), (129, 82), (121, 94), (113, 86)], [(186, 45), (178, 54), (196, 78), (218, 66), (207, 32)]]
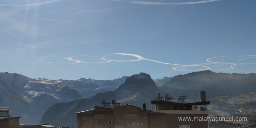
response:
[[(107, 59), (107, 56), (110, 55), (123, 55), (123, 56), (134, 56), (136, 59), (134, 60), (110, 60)], [(83, 55), (83, 56), (88, 56), (88, 55)], [(135, 62), (135, 61), (142, 61), (142, 60), (146, 60), (146, 61), (152, 61), (152, 62), (156, 62), (156, 63), (161, 63), (161, 64), (167, 64), (167, 65), (175, 65), (176, 67), (172, 67), (173, 71), (201, 71), (201, 70), (211, 70), (211, 67), (218, 67), (221, 65), (230, 65), (229, 68), (225, 68), (225, 69), (214, 69), (214, 70), (231, 70), (234, 69), (234, 67), (236, 65), (249, 65), (249, 64), (256, 64), (256, 63), (229, 63), (229, 62), (216, 62), (216, 61), (210, 61), (211, 59), (216, 59), (216, 58), (223, 58), (223, 57), (245, 57), (242, 59), (239, 59), (239, 61), (244, 60), (244, 59), (250, 59), (250, 58), (256, 58), (256, 55), (248, 55), (248, 56), (218, 56), (218, 57), (212, 57), (212, 58), (208, 58), (206, 61), (208, 63), (198, 63), (198, 64), (191, 64), (191, 65), (183, 65), (183, 64), (175, 64), (175, 63), (166, 63), (166, 62), (160, 62), (160, 61), (156, 61), (156, 60), (152, 60), (152, 59), (148, 59), (148, 58), (144, 58), (140, 55), (137, 54), (127, 54), (127, 53), (113, 53), (113, 54), (107, 54), (104, 55), (103, 57), (98, 57), (98, 56), (89, 56), (89, 57), (96, 57), (96, 58), (100, 58), (101, 60), (103, 60), (102, 62), (85, 62), (79, 59), (74, 59), (74, 57), (76, 56), (71, 56), (71, 57), (59, 57), (59, 58), (64, 58), (68, 61), (72, 61), (74, 63), (63, 63), (63, 64), (75, 64), (75, 63), (109, 63), (109, 62)], [(45, 61), (45, 60), (42, 60)], [(56, 63), (56, 62), (50, 62), (50, 61), (46, 61), (48, 63)], [(217, 64), (217, 65), (216, 65)], [(205, 66), (205, 65), (213, 65), (211, 67)], [(201, 69), (187, 69), (189, 67), (200, 67)], [(165, 74), (165, 73), (163, 73)]]

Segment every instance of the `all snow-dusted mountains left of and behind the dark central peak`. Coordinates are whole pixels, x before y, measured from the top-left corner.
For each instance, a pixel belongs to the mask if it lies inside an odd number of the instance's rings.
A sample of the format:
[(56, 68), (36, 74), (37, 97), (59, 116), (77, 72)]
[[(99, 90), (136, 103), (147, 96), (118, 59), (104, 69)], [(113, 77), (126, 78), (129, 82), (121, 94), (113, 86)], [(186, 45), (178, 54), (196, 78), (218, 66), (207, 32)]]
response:
[(42, 115), (53, 104), (116, 90), (128, 77), (121, 76), (112, 80), (90, 78), (49, 80), (31, 79), (21, 74), (2, 72), (0, 73), (0, 107), (10, 107), (10, 116), (20, 116), (22, 124), (39, 124)]

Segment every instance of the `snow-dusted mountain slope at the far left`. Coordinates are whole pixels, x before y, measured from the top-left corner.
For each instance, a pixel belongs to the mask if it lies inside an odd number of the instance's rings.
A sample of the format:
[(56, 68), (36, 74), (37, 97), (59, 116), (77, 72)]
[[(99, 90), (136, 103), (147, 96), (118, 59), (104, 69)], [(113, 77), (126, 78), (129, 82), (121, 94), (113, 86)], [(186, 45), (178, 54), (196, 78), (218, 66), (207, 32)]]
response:
[(22, 124), (38, 124), (49, 106), (81, 98), (76, 90), (54, 82), (0, 73), (0, 107), (10, 107), (10, 116), (20, 116)]

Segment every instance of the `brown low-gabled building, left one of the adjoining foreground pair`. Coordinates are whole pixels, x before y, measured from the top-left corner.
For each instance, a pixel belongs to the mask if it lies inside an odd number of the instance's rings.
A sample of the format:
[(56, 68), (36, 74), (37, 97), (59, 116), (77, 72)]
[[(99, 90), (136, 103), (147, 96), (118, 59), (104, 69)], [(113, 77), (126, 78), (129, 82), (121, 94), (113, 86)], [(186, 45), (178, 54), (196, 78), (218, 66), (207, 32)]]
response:
[[(142, 110), (129, 104), (116, 108), (95, 106), (77, 113), (78, 128), (164, 128), (164, 113)], [(153, 127), (152, 127), (153, 128)]]

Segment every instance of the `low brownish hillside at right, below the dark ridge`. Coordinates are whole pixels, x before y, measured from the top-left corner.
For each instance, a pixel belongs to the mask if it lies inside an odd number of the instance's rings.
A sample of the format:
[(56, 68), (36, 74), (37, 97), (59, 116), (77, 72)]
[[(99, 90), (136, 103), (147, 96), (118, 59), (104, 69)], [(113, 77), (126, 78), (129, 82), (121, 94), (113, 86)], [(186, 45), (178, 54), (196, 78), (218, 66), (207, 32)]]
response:
[(256, 92), (235, 96), (221, 96), (209, 99), (211, 116), (250, 115), (256, 114)]

